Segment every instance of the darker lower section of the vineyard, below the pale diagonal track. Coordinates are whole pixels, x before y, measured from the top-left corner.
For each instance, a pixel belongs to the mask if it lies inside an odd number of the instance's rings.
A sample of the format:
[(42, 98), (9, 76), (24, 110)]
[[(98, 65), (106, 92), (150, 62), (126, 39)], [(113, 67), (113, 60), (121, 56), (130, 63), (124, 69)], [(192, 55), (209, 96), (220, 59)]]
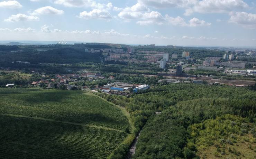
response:
[(0, 158), (107, 158), (125, 132), (0, 115)]

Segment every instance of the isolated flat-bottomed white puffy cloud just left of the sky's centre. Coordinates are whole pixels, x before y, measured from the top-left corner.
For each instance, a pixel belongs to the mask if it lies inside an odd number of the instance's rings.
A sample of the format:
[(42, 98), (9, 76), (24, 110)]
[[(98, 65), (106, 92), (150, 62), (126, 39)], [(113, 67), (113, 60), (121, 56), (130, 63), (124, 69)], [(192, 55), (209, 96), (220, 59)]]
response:
[(90, 12), (83, 11), (79, 14), (79, 18), (84, 19), (111, 19), (112, 15), (107, 10), (93, 9)]

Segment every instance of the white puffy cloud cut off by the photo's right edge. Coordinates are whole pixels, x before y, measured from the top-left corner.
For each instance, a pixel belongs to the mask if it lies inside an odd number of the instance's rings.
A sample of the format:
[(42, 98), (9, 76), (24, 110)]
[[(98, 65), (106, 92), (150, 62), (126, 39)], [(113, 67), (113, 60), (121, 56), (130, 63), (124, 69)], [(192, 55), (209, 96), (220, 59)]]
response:
[(256, 29), (256, 14), (236, 12), (230, 17), (229, 22), (239, 24), (244, 28)]

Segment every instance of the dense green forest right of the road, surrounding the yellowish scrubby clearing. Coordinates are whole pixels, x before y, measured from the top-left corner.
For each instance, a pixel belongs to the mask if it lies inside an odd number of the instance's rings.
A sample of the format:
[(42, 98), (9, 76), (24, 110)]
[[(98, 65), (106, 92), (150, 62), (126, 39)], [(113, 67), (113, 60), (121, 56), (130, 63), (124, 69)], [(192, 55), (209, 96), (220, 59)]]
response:
[[(225, 115), (243, 119), (250, 127), (246, 131), (240, 131), (242, 127), (239, 125), (239, 131), (249, 132), (250, 128), (252, 141), (256, 137), (256, 92), (248, 88), (180, 83), (157, 86), (131, 98), (110, 95), (103, 97), (126, 107), (134, 120), (137, 132), (146, 124), (139, 136), (136, 153), (133, 156), (135, 159), (200, 158), (202, 149), (198, 147), (197, 142), (200, 136), (192, 135), (192, 126)], [(153, 115), (156, 110), (162, 110), (162, 113)], [(229, 117), (223, 120), (234, 119)], [(238, 123), (236, 120), (234, 122)], [(225, 129), (225, 126), (219, 127), (216, 131), (221, 137), (228, 139), (232, 131), (223, 134), (222, 131), (225, 132)], [(217, 143), (217, 140), (213, 142)], [(237, 148), (234, 147), (231, 151), (234, 149)], [(253, 147), (248, 151), (254, 152), (256, 149)], [(221, 155), (220, 153), (218, 151), (218, 155)]]

